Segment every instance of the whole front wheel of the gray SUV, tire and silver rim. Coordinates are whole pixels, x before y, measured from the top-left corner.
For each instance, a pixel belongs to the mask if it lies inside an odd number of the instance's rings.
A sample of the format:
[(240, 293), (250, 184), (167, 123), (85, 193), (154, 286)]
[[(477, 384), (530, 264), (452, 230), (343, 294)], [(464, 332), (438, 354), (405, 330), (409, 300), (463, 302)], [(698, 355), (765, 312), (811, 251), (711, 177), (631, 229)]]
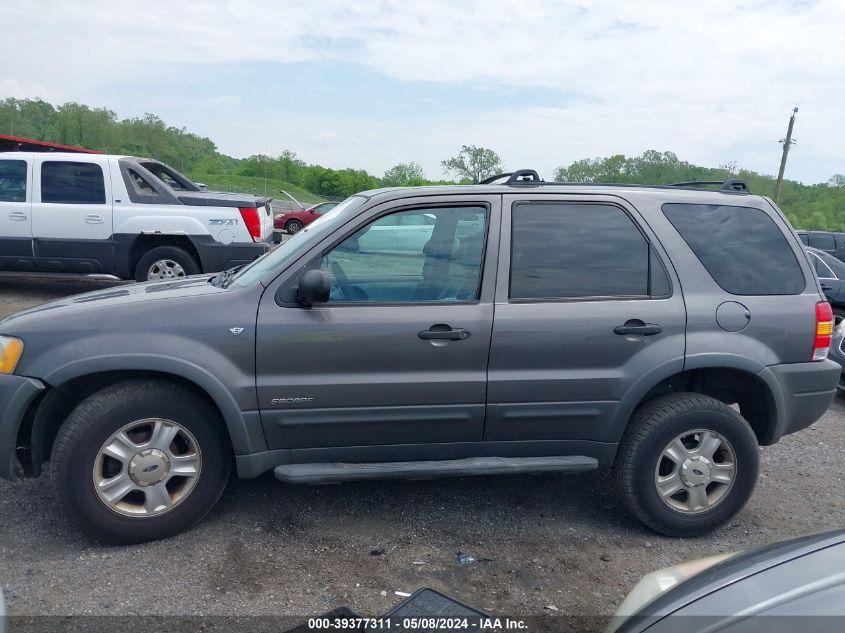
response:
[[(143, 428), (139, 435), (138, 425), (154, 420), (163, 431), (180, 429), (168, 443), (172, 449), (168, 449), (169, 461), (157, 462), (165, 464), (166, 473), (156, 474), (158, 465), (150, 461), (158, 459), (148, 455), (154, 452), (149, 447), (156, 445), (153, 437), (146, 442), (146, 450), (135, 453), (145, 445)], [(129, 427), (124, 436), (132, 438), (132, 444), (113, 440)], [(164, 432), (161, 436), (169, 437)], [(123, 463), (110, 457), (114, 450), (101, 450), (109, 442), (109, 446), (128, 448), (125, 455), (135, 453), (134, 457)], [(180, 450), (183, 454), (177, 455)], [(173, 474), (176, 466), (187, 472), (190, 463), (196, 476)], [(232, 450), (223, 421), (205, 399), (173, 383), (131, 380), (94, 393), (71, 412), (53, 444), (50, 478), (59, 505), (84, 532), (104, 543), (130, 544), (172, 536), (202, 519), (223, 494), (231, 465)], [(113, 470), (103, 476), (107, 468)], [(160, 474), (169, 478), (152, 485), (149, 478)], [(103, 487), (117, 491), (114, 496), (118, 500), (109, 503), (97, 490), (95, 482), (102, 487), (101, 477), (105, 481), (120, 478), (134, 488), (120, 496), (116, 485)], [(136, 478), (144, 477), (146, 482), (139, 485)], [(167, 503), (156, 506), (161, 497), (155, 493), (162, 486), (171, 500), (169, 507)]]

